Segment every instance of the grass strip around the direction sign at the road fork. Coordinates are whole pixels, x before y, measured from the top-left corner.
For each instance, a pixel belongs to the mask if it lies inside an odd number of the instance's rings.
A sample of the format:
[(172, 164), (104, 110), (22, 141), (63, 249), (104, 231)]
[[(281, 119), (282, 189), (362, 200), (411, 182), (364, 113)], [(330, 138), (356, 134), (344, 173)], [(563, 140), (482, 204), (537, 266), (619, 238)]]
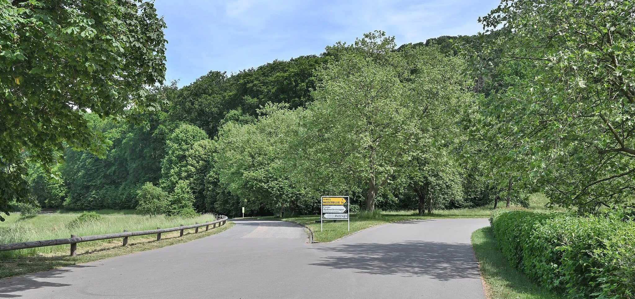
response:
[(380, 224), (387, 224), (391, 222), (405, 221), (405, 220), (422, 220), (422, 219), (448, 219), (448, 218), (488, 218), (491, 215), (490, 208), (465, 208), (455, 210), (438, 210), (432, 212), (432, 215), (417, 215), (416, 211), (402, 211), (402, 212), (382, 212), (381, 214), (368, 217), (367, 215), (351, 215), (351, 231), (348, 231), (348, 224), (346, 220), (332, 220), (323, 224), (323, 231), (320, 230), (319, 215), (299, 216), (299, 217), (286, 217), (284, 219), (274, 217), (250, 217), (251, 219), (270, 219), (270, 220), (284, 220), (288, 222), (294, 222), (310, 227), (313, 231), (314, 242), (330, 242), (344, 236), (348, 236), (354, 232), (367, 229), (369, 227), (378, 226)]

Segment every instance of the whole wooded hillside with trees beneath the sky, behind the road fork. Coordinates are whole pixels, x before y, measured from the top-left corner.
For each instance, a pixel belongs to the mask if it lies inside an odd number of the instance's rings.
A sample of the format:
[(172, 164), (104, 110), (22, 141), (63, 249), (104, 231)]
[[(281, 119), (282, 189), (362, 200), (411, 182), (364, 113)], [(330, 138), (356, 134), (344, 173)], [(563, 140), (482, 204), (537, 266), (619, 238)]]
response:
[[(457, 39), (466, 37), (398, 48), (377, 32), (319, 56), (233, 75), (211, 71), (157, 89), (166, 104), (146, 112), (144, 125), (86, 113), (112, 142), (109, 151), (100, 158), (65, 149), (65, 163), (53, 169), (59, 180), (32, 165), (32, 196), (44, 208), (136, 208), (145, 183), (170, 194), (184, 182), (198, 212), (228, 215), (240, 207), (248, 215), (317, 212), (317, 196), (331, 193), (368, 210), (489, 204), (500, 194), (485, 169), (455, 152), (463, 137), (458, 107), (472, 88)], [(375, 53), (364, 56), (368, 50)], [(341, 80), (360, 71), (375, 77), (342, 90)], [(342, 106), (344, 99), (351, 103)]]

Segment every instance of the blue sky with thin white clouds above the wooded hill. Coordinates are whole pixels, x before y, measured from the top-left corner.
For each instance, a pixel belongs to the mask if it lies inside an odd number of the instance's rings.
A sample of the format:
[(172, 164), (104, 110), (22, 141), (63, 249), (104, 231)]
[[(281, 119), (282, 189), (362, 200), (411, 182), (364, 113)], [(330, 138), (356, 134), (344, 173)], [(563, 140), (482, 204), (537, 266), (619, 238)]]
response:
[(472, 35), (499, 0), (156, 0), (168, 29), (166, 79), (190, 84), (210, 70), (238, 72), (322, 53), (384, 30), (397, 44)]

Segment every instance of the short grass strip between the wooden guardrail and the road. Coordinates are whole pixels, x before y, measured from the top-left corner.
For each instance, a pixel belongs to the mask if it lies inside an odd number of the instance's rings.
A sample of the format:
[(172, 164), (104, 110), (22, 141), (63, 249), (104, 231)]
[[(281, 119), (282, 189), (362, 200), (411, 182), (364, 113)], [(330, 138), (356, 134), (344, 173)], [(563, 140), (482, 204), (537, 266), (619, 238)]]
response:
[(127, 246), (121, 246), (121, 239), (110, 239), (108, 242), (85, 242), (77, 244), (77, 256), (70, 257), (69, 251), (55, 251), (53, 253), (37, 253), (31, 256), (17, 256), (0, 260), (0, 278), (18, 276), (22, 274), (52, 270), (70, 265), (83, 264), (103, 260), (120, 255), (128, 255), (146, 250), (162, 248), (165, 246), (185, 243), (195, 239), (218, 234), (227, 231), (234, 226), (233, 222), (227, 222), (224, 226), (211, 229), (209, 231), (194, 234), (194, 229), (186, 231), (184, 236), (179, 237), (179, 232), (167, 232), (161, 234), (161, 241), (156, 241), (156, 235), (138, 236), (130, 238)]

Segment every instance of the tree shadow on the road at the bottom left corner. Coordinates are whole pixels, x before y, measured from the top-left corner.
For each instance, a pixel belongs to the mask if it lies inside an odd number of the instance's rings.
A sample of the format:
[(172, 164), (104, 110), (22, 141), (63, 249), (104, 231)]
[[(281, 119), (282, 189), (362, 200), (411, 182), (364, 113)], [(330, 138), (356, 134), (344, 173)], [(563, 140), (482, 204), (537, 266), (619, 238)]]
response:
[[(69, 265), (65, 269), (56, 269), (46, 272), (27, 274), (25, 276), (5, 278), (0, 280), (0, 298), (22, 297), (18, 292), (29, 289), (39, 289), (51, 286), (70, 286), (65, 283), (50, 283), (44, 279), (64, 277), (62, 274), (70, 272), (72, 268), (95, 267), (88, 265)], [(69, 269), (70, 268), (70, 269)]]

